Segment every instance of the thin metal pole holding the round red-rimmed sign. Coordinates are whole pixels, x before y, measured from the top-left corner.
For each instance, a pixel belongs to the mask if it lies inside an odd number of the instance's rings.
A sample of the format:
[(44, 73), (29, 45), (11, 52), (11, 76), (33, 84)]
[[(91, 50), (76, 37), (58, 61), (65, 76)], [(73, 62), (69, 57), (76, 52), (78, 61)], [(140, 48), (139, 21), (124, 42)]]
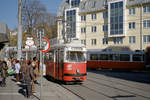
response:
[[(42, 32), (40, 31), (40, 49), (42, 48)], [(43, 63), (42, 63), (42, 51), (40, 50), (40, 100), (42, 100), (42, 88), (43, 88)]]

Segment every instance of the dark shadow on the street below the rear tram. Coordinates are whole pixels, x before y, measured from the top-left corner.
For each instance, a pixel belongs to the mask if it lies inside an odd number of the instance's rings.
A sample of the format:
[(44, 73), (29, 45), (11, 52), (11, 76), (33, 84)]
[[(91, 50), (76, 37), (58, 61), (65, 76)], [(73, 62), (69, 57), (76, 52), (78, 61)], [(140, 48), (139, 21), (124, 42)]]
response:
[(150, 84), (150, 72), (127, 71), (127, 70), (91, 70), (87, 72), (101, 74), (109, 77), (120, 78), (129, 81)]

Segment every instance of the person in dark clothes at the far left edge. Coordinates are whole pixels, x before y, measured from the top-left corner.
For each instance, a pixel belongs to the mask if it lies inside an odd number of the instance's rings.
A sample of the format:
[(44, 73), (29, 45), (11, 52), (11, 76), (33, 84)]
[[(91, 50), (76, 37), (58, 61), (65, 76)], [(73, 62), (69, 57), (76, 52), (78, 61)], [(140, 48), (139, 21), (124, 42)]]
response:
[(8, 69), (7, 63), (5, 61), (2, 61), (1, 62), (1, 77), (2, 77), (1, 86), (2, 87), (6, 86), (6, 77), (8, 76), (7, 69)]

